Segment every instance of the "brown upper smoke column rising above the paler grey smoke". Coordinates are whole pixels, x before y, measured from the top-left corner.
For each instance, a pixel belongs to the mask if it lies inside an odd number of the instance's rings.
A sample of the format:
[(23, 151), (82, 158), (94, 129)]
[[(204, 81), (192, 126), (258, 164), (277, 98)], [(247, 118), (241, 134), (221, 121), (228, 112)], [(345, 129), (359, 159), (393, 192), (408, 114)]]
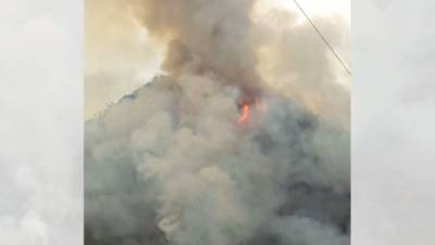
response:
[(133, 5), (151, 35), (169, 41), (163, 69), (212, 72), (248, 94), (260, 91), (250, 10), (253, 0), (138, 0)]

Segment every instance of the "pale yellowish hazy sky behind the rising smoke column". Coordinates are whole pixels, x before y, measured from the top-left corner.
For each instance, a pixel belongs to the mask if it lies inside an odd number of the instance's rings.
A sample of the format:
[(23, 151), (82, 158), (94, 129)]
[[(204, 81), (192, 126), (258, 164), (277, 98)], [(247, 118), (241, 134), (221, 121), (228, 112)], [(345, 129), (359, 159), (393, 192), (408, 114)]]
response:
[[(262, 11), (297, 11), (293, 0), (259, 2)], [(299, 0), (299, 4), (312, 16), (340, 15), (350, 24), (349, 0)], [(303, 21), (301, 13), (297, 14)], [(89, 119), (159, 73), (164, 45), (150, 40), (119, 1), (85, 1), (85, 118)], [(348, 45), (337, 47), (337, 51), (349, 63)], [(349, 77), (345, 75), (338, 82), (348, 85)]]

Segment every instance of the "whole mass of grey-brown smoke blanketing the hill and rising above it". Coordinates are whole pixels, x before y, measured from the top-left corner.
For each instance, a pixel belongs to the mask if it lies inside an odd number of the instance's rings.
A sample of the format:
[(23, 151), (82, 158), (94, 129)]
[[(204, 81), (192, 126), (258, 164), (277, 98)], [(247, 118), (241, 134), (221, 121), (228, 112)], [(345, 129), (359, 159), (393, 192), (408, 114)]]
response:
[(86, 123), (86, 244), (348, 245), (348, 131), (265, 88), (253, 1), (130, 3), (167, 75)]

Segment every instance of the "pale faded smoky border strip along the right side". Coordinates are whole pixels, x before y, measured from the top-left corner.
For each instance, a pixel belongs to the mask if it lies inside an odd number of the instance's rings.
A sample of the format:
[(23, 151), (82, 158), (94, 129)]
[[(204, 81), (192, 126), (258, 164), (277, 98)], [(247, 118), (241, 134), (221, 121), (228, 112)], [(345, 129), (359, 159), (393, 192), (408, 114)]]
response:
[(352, 244), (434, 244), (433, 1), (353, 1)]

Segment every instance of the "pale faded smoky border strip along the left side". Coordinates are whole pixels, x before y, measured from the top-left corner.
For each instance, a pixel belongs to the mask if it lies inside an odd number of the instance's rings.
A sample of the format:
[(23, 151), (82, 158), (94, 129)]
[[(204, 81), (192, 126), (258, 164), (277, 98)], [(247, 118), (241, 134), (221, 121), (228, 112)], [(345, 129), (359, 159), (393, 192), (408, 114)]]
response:
[(80, 1), (0, 9), (0, 244), (83, 237)]

